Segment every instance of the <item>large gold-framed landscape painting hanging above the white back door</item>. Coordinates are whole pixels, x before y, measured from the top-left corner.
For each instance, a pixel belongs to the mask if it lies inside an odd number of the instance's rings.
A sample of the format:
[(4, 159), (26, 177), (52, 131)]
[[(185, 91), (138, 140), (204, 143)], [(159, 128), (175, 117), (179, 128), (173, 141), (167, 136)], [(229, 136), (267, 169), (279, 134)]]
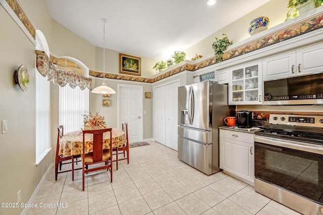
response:
[(140, 76), (141, 58), (119, 53), (119, 70), (121, 74)]

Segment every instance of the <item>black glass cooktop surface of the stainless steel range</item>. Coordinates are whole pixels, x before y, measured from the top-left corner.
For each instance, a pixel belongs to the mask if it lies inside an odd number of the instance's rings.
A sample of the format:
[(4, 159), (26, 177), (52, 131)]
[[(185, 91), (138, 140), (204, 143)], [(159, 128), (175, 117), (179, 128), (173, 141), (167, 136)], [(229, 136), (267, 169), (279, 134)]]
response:
[(270, 128), (256, 131), (255, 134), (323, 145), (323, 133)]

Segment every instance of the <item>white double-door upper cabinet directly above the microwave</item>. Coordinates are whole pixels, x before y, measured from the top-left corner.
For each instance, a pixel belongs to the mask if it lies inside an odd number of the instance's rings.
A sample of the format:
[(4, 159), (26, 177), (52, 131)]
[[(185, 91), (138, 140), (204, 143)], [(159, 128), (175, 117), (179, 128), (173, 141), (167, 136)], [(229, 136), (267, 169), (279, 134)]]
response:
[(263, 59), (263, 81), (323, 71), (323, 44), (316, 43), (295, 51)]

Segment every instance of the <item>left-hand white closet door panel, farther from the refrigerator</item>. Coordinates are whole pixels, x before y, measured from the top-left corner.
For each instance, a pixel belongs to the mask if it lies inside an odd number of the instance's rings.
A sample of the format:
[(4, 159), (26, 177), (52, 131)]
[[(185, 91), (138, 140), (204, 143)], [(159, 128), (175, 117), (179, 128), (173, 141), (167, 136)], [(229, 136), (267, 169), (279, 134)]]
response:
[(154, 89), (154, 140), (165, 145), (165, 86)]

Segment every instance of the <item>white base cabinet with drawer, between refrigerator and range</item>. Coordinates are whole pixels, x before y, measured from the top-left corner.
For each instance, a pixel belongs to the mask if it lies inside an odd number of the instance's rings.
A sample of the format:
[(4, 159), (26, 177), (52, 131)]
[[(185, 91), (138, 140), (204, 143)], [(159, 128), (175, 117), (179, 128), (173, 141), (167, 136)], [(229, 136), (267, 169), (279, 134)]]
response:
[(254, 134), (220, 129), (220, 168), (254, 183)]

